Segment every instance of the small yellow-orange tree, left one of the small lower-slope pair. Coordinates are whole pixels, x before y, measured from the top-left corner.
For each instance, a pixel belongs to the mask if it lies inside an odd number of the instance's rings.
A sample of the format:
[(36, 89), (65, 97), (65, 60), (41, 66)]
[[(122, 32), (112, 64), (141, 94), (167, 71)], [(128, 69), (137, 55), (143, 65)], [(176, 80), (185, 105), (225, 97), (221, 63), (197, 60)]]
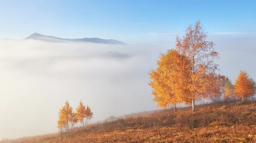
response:
[(59, 128), (61, 135), (63, 132), (69, 136), (72, 128), (78, 122), (73, 108), (69, 105), (68, 101), (59, 111), (59, 120), (57, 121), (57, 128)]

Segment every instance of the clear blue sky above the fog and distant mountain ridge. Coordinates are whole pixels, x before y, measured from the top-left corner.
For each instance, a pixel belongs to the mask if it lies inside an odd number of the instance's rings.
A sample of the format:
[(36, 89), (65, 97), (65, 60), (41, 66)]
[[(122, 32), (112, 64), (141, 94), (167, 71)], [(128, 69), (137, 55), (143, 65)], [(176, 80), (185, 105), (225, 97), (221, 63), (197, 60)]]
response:
[(197, 19), (215, 35), (256, 33), (254, 0), (0, 0), (0, 38), (165, 39)]

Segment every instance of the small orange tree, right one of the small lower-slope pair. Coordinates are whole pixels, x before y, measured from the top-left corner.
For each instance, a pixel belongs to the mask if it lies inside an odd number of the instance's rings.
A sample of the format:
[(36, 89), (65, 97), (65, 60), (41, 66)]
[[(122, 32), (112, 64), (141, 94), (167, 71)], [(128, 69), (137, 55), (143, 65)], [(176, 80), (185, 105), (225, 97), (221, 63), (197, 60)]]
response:
[(89, 106), (84, 106), (81, 100), (78, 107), (76, 108), (75, 115), (78, 121), (83, 124), (83, 130), (86, 129), (87, 123), (93, 118), (93, 112), (91, 112), (91, 108)]

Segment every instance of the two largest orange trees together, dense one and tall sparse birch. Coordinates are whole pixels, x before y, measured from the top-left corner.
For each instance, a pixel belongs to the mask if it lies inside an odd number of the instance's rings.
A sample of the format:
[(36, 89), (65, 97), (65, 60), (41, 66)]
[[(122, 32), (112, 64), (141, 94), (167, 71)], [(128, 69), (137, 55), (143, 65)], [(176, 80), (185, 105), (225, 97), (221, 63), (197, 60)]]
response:
[(149, 83), (159, 107), (190, 100), (194, 111), (196, 99), (220, 96), (222, 78), (215, 74), (218, 65), (213, 61), (219, 54), (206, 38), (207, 32), (197, 21), (185, 29), (182, 39), (176, 37), (176, 50), (160, 53), (158, 68), (151, 71)]

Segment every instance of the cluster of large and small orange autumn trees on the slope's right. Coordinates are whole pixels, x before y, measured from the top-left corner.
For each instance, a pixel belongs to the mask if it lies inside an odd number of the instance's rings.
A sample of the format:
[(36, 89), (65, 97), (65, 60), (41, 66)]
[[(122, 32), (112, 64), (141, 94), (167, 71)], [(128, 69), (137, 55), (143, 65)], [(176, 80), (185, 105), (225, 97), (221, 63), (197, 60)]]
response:
[(152, 70), (148, 83), (152, 88), (157, 106), (167, 108), (184, 103), (210, 99), (218, 102), (239, 98), (242, 101), (255, 95), (256, 84), (245, 71), (240, 71), (233, 85), (227, 76), (217, 74), (219, 53), (214, 51), (215, 44), (207, 41), (207, 32), (198, 20), (185, 29), (185, 34), (176, 37), (176, 47), (161, 52), (157, 60), (158, 68)]

